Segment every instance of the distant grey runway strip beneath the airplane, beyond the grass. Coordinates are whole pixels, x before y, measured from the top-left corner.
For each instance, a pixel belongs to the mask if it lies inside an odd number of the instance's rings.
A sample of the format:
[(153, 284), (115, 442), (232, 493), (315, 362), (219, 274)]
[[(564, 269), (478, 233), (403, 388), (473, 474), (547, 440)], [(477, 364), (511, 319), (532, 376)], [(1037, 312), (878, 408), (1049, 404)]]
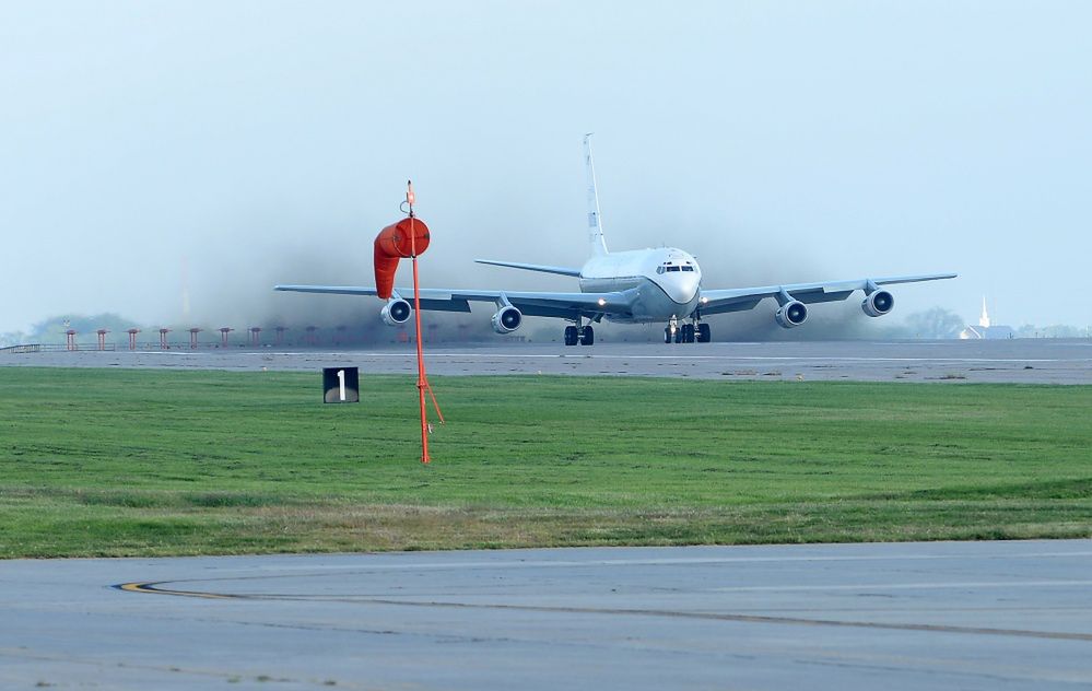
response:
[[(497, 341), (430, 347), (437, 375), (570, 374), (724, 380), (857, 380), (1092, 384), (1092, 341), (830, 341), (778, 343), (596, 343), (571, 347)], [(284, 351), (77, 351), (0, 353), (0, 365), (317, 371), (359, 366), (363, 375), (415, 372), (413, 348)]]

